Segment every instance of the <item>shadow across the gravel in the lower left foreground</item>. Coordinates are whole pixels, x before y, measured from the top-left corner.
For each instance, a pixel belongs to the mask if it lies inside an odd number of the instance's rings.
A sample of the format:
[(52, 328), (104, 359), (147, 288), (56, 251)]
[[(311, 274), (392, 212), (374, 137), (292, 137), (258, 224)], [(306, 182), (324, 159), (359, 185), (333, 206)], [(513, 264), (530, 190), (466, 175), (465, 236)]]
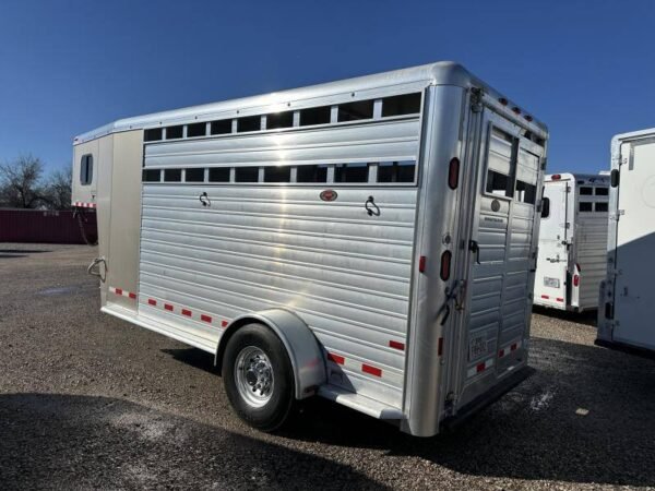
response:
[(350, 467), (121, 399), (0, 396), (1, 489), (380, 489)]

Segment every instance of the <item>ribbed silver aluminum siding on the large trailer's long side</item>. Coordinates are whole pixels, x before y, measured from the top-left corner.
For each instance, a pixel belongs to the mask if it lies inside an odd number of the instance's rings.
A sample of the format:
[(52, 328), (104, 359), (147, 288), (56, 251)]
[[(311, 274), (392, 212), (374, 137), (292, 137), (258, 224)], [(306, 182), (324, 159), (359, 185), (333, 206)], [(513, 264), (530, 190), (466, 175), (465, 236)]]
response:
[[(415, 159), (418, 120), (147, 145), (146, 167)], [(275, 149), (276, 148), (276, 149)], [(334, 202), (319, 194), (330, 188)], [(199, 201), (206, 192), (211, 206)], [(364, 204), (373, 195), (380, 216)], [(382, 369), (331, 363), (332, 384), (401, 406), (415, 231), (415, 187), (145, 184), (140, 314), (204, 333), (221, 328), (147, 299), (219, 319), (284, 307), (325, 349)]]

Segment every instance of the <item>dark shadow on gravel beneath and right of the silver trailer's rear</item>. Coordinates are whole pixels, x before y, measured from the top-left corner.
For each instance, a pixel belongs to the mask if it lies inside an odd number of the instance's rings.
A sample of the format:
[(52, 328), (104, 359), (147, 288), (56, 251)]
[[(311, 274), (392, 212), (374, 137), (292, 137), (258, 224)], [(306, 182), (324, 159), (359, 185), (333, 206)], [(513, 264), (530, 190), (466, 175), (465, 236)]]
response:
[(312, 399), (284, 435), (418, 456), (465, 475), (655, 484), (655, 362), (550, 339), (532, 343), (537, 373), (454, 433), (412, 438)]

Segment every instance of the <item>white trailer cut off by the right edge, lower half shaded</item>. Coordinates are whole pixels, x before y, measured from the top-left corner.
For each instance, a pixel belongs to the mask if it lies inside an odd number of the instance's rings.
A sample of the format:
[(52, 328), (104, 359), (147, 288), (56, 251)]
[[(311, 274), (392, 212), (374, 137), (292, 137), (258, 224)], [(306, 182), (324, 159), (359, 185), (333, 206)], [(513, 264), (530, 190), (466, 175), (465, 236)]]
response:
[(655, 129), (611, 141), (607, 277), (599, 345), (655, 350)]

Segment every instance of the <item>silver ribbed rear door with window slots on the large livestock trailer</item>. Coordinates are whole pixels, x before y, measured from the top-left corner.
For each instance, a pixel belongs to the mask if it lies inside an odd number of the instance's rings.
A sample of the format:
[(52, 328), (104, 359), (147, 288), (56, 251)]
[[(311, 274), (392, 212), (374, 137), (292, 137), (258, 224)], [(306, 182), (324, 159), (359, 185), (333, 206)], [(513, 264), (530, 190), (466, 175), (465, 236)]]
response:
[(544, 147), (485, 109), (468, 240), (463, 406), (526, 363)]

